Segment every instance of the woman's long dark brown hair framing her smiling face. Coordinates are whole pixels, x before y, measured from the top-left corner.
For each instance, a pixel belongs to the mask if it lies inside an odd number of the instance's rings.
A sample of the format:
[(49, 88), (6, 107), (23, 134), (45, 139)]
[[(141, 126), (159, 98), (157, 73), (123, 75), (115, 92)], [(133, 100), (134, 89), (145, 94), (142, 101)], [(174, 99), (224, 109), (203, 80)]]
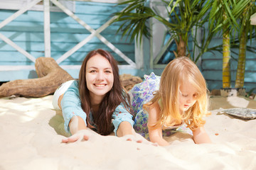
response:
[[(89, 89), (87, 89), (85, 70), (88, 60), (90, 60), (90, 58), (95, 55), (101, 55), (110, 62), (114, 76), (114, 83), (112, 89), (108, 91), (105, 97), (102, 99), (98, 111), (92, 114), (94, 123), (96, 125), (96, 127), (93, 127), (89, 116), (91, 108), (90, 93)], [(112, 125), (112, 113), (114, 113), (115, 108), (117, 108), (117, 106), (119, 106), (120, 103), (124, 104), (124, 107), (127, 109), (127, 111), (129, 111), (130, 108), (129, 103), (127, 102), (129, 101), (129, 95), (124, 91), (121, 81), (119, 79), (119, 69), (117, 66), (117, 61), (114, 60), (114, 57), (112, 57), (110, 52), (107, 52), (102, 49), (93, 50), (89, 52), (89, 54), (85, 57), (85, 60), (82, 62), (82, 66), (79, 73), (78, 89), (80, 94), (82, 110), (85, 111), (87, 115), (87, 126), (89, 128), (97, 128), (97, 132), (100, 133), (100, 135), (110, 135), (110, 133), (113, 132), (114, 130), (114, 127)]]

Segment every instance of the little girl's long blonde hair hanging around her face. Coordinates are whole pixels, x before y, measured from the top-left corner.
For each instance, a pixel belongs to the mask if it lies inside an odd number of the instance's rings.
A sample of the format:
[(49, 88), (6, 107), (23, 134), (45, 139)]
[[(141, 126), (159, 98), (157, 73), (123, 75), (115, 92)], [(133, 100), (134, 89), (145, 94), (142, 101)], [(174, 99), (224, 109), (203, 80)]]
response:
[[(180, 86), (188, 82), (196, 89), (198, 95), (196, 103), (181, 114), (179, 111)], [(177, 57), (167, 64), (161, 74), (159, 91), (156, 91), (154, 98), (144, 104), (144, 109), (159, 102), (160, 115), (155, 125), (148, 125), (149, 128), (159, 128), (162, 125), (180, 125), (183, 121), (191, 130), (206, 123), (204, 115), (208, 115), (208, 89), (206, 80), (194, 62), (188, 57)], [(168, 121), (166, 121), (168, 120)]]

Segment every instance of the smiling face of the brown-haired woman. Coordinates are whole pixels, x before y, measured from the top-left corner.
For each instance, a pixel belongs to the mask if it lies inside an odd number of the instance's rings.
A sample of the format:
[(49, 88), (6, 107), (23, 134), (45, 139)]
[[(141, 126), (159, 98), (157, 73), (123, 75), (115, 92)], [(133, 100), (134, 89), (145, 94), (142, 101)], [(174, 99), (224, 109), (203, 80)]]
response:
[(114, 83), (110, 62), (102, 55), (91, 57), (86, 64), (85, 78), (90, 98), (101, 101)]

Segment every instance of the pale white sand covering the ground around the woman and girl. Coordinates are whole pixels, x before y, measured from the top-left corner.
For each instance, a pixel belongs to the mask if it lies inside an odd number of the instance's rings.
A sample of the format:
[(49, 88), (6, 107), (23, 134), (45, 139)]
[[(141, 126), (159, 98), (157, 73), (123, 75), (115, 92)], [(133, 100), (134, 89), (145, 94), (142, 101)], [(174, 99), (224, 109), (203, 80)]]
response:
[[(190, 135), (167, 137), (168, 147), (95, 135), (60, 143), (63, 118), (44, 98), (0, 98), (0, 169), (256, 169), (256, 119), (217, 110), (207, 118), (213, 144), (195, 145)], [(211, 108), (256, 108), (245, 98), (211, 98)]]

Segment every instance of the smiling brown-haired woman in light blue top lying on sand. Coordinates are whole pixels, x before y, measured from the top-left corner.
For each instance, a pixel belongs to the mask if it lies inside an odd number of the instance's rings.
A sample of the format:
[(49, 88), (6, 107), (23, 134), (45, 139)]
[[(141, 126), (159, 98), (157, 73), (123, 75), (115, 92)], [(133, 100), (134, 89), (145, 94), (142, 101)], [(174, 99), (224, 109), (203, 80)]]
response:
[(82, 62), (78, 81), (67, 81), (53, 96), (53, 106), (62, 110), (64, 128), (72, 135), (63, 142), (88, 140), (87, 128), (100, 135), (114, 131), (118, 137), (137, 139), (127, 101), (116, 60), (105, 50), (93, 50)]

